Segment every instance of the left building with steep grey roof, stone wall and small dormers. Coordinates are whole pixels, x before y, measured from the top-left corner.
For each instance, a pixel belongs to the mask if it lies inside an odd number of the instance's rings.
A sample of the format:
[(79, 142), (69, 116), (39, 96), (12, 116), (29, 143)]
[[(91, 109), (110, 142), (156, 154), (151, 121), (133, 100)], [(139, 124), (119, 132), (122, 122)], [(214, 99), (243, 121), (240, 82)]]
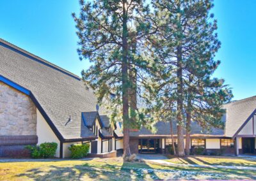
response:
[(0, 39), (0, 157), (45, 142), (58, 143), (56, 157), (69, 157), (74, 143), (99, 156), (122, 149), (106, 114), (81, 78)]

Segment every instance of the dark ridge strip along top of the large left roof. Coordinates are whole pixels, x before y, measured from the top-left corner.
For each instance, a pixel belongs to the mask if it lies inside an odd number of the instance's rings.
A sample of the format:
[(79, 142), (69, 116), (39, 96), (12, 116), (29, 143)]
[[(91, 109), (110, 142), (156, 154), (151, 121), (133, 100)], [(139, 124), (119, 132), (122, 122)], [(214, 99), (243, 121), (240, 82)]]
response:
[(54, 68), (54, 69), (56, 69), (58, 71), (61, 71), (62, 73), (66, 74), (66, 75), (72, 76), (73, 78), (76, 78), (77, 80), (81, 80), (81, 78), (79, 76), (75, 75), (74, 73), (71, 73), (70, 71), (68, 71), (66, 69), (63, 69), (60, 66), (57, 66), (56, 64), (52, 64), (51, 62), (46, 61), (45, 59), (42, 59), (41, 57), (38, 57), (35, 54), (31, 54), (27, 50), (24, 50), (24, 49), (22, 49), (20, 47), (17, 47), (16, 45), (13, 45), (9, 41), (3, 40), (3, 38), (0, 38), (0, 43), (3, 43), (4, 45), (6, 45), (8, 47), (11, 47), (11, 48), (13, 48), (13, 49), (15, 49), (15, 50), (17, 50), (19, 52), (22, 52), (23, 54), (26, 54), (26, 55), (28, 55), (30, 57), (33, 57), (34, 59), (37, 59), (38, 61), (40, 61), (42, 64), (46, 64), (47, 66), (49, 66), (51, 68)]

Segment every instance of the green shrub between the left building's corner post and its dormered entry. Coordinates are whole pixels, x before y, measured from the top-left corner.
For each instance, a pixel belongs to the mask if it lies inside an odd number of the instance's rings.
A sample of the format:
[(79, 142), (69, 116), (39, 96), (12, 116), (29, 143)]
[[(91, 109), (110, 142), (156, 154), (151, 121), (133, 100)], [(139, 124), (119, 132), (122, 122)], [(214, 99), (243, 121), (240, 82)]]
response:
[(73, 159), (81, 158), (87, 156), (89, 152), (90, 145), (88, 143), (84, 144), (74, 144), (70, 145), (68, 150), (71, 151), (71, 157)]

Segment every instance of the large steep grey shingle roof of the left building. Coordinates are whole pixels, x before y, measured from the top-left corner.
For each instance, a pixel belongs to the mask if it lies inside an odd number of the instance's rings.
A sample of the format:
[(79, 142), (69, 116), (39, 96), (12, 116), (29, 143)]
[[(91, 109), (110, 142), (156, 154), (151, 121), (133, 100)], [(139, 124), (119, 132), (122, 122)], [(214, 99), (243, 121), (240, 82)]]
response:
[(95, 137), (81, 113), (95, 112), (97, 98), (76, 75), (1, 39), (0, 75), (31, 91), (64, 139)]

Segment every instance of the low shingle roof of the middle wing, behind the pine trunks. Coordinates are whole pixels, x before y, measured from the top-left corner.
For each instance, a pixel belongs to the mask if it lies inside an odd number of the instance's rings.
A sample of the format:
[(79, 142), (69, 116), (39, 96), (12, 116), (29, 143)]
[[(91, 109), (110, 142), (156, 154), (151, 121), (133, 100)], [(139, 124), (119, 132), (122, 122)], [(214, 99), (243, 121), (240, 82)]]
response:
[[(143, 136), (143, 135), (156, 135), (156, 136), (170, 136), (171, 129), (170, 129), (170, 122), (163, 122), (159, 121), (156, 123), (156, 133), (152, 133), (150, 130), (143, 127), (140, 131), (132, 131), (130, 136)], [(211, 136), (221, 136), (223, 135), (223, 129), (212, 128), (211, 131), (206, 131), (202, 129), (200, 125), (196, 122), (191, 122), (191, 136), (193, 135), (202, 135), (202, 134), (209, 134)], [(184, 130), (185, 134), (185, 130)], [(177, 126), (176, 122), (173, 121), (173, 135), (177, 135)]]

